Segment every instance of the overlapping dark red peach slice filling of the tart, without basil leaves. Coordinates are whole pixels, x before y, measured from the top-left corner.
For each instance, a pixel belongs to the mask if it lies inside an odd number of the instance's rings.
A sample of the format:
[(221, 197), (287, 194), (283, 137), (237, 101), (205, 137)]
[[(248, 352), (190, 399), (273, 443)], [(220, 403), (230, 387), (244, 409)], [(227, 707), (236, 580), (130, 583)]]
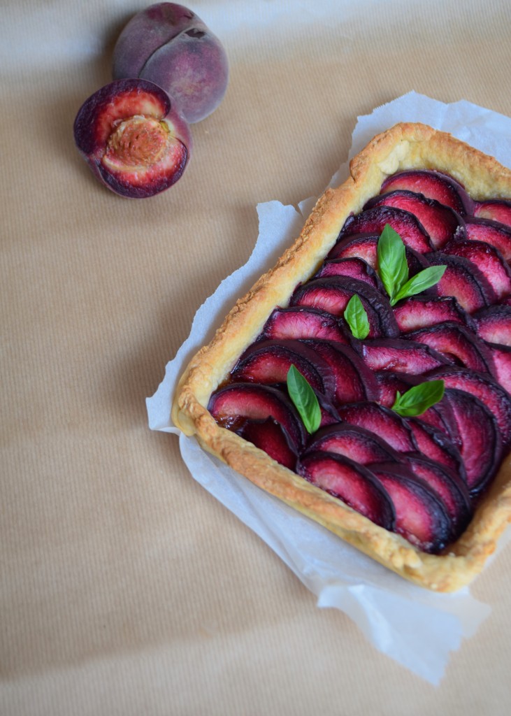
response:
[[(409, 275), (446, 266), (439, 282), (389, 301), (378, 241), (401, 236)], [(432, 170), (396, 173), (356, 216), (288, 306), (276, 306), (208, 410), (304, 480), (419, 549), (459, 538), (511, 445), (511, 204), (477, 202)], [(344, 319), (351, 296), (366, 339)], [(312, 435), (289, 399), (294, 365), (316, 392)], [(417, 417), (396, 395), (441, 379)]]

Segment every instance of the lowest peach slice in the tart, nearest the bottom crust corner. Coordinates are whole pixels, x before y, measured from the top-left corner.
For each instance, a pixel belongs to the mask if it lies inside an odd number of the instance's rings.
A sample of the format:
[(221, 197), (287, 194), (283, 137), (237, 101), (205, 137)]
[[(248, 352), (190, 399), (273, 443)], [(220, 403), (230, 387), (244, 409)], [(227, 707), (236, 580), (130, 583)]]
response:
[(424, 552), (439, 552), (452, 534), (452, 521), (442, 500), (412, 470), (395, 463), (371, 465), (389, 493), (396, 511), (394, 531)]

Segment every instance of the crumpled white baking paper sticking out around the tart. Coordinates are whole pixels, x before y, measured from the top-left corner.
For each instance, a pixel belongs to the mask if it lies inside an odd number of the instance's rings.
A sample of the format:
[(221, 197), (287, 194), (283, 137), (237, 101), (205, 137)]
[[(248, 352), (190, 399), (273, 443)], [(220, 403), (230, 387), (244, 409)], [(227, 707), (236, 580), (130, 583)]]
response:
[[(349, 159), (374, 135), (403, 121), (451, 132), (511, 166), (509, 117), (464, 100), (447, 105), (416, 92), (359, 117)], [(339, 185), (347, 175), (348, 163), (331, 185)], [(435, 594), (401, 579), (205, 453), (195, 438), (185, 437), (170, 420), (172, 395), (189, 359), (213, 337), (235, 300), (298, 236), (314, 201), (303, 200), (300, 211), (278, 201), (258, 205), (259, 237), (253, 253), (200, 306), (190, 336), (167, 364), (155, 395), (147, 399), (149, 425), (179, 435), (181, 454), (193, 478), (273, 548), (316, 594), (318, 606), (341, 609), (376, 649), (439, 684), (449, 652), (475, 634), (489, 616), (489, 606), (474, 599), (467, 587), (454, 594)]]

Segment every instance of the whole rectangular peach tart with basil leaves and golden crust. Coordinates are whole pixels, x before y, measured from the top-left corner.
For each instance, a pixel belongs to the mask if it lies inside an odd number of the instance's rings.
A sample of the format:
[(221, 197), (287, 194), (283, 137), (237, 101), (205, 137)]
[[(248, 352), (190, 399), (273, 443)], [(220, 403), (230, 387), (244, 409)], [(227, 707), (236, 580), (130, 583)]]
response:
[(374, 137), (240, 298), (172, 420), (416, 584), (511, 521), (511, 170), (421, 124)]

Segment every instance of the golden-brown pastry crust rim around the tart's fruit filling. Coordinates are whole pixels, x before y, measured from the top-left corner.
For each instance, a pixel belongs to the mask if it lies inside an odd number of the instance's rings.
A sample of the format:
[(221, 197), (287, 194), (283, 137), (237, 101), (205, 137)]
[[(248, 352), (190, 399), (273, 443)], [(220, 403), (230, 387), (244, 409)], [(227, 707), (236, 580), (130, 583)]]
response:
[(278, 465), (250, 442), (217, 425), (208, 412), (211, 393), (261, 332), (275, 306), (286, 306), (334, 245), (350, 213), (358, 213), (396, 171), (427, 168), (449, 173), (474, 199), (511, 197), (511, 170), (446, 132), (401, 123), (374, 137), (350, 163), (351, 176), (316, 203), (300, 236), (276, 266), (240, 298), (208, 346), (193, 357), (177, 386), (172, 421), (255, 485), (276, 495), (384, 566), (436, 591), (455, 591), (480, 573), (511, 521), (511, 460), (508, 457), (477, 507), (467, 530), (444, 554), (424, 553), (401, 536)]

